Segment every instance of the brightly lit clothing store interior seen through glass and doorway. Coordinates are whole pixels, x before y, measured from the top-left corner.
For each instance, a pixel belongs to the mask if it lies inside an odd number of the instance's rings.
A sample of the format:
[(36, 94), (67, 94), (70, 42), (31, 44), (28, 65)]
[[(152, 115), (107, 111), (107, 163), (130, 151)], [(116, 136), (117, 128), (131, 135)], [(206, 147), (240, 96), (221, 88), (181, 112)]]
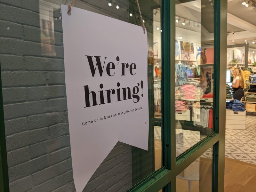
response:
[[(212, 132), (214, 74), (213, 0), (176, 4), (176, 156)], [(242, 163), (256, 164), (256, 3), (228, 0), (226, 149), (225, 156)], [(161, 117), (161, 10), (154, 13), (154, 116)], [(151, 52), (150, 52), (151, 51)], [(151, 56), (152, 56), (151, 55)], [(174, 63), (172, 63), (174, 64)], [(244, 96), (234, 101), (234, 68), (244, 77)], [(161, 140), (161, 127), (155, 126), (155, 144)], [(155, 162), (160, 150), (155, 149)], [(158, 155), (156, 155), (158, 154)], [(202, 166), (211, 164), (212, 148), (177, 176), (176, 191), (204, 188)], [(207, 163), (208, 162), (208, 163)], [(161, 164), (156, 165), (156, 169)], [(252, 166), (254, 166), (252, 165)], [(211, 173), (209, 168), (208, 170)], [(209, 173), (208, 172), (208, 173)], [(205, 176), (205, 175), (204, 175)], [(208, 184), (211, 181), (207, 181)], [(208, 191), (207, 189), (203, 191)]]

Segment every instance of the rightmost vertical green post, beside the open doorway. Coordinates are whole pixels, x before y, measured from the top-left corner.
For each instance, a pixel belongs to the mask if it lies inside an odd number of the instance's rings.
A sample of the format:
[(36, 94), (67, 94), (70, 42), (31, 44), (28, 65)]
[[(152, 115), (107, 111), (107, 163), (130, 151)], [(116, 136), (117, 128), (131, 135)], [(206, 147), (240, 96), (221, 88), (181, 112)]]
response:
[[(216, 145), (214, 159), (214, 191), (224, 191), (225, 168), (225, 126), (226, 126), (226, 70), (227, 70), (227, 1), (214, 1), (216, 7), (214, 17), (214, 61), (217, 82), (215, 95), (215, 131), (219, 133), (219, 142)], [(218, 148), (218, 150), (217, 150)], [(217, 165), (217, 166), (216, 166)]]

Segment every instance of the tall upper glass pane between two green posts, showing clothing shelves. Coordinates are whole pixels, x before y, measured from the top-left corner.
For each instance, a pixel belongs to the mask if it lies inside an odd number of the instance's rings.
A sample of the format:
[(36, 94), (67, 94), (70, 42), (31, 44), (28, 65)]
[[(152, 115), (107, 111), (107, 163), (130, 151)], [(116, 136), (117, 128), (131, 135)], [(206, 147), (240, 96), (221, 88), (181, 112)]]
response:
[(176, 3), (176, 156), (213, 132), (212, 2)]

